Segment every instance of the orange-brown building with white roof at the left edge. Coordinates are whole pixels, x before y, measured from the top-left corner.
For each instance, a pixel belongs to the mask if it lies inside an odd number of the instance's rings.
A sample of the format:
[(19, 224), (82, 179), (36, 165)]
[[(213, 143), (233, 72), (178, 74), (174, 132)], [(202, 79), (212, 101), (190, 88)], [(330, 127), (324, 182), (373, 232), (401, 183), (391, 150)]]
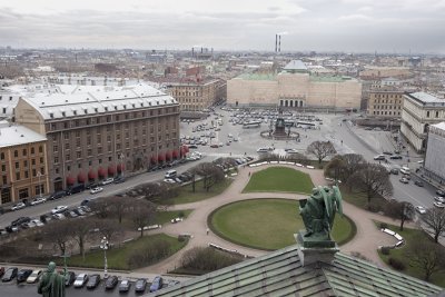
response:
[(0, 127), (0, 206), (49, 191), (47, 138), (23, 127)]

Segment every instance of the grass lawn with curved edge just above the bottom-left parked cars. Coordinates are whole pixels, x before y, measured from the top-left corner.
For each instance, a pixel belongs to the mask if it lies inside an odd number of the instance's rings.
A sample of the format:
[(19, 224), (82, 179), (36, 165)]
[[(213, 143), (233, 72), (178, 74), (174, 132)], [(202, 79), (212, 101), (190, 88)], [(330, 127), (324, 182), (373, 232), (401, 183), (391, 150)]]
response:
[[(187, 245), (187, 241), (180, 242), (176, 237), (170, 237), (165, 234), (144, 236), (142, 238), (127, 242), (119, 248), (109, 249), (107, 251), (108, 267), (110, 269), (128, 270), (128, 258), (131, 251), (141, 248), (149, 242), (154, 242), (155, 240), (166, 240), (169, 242), (170, 254), (167, 257), (174, 255)], [(82, 259), (82, 256), (73, 256), (67, 259), (67, 264), (68, 266), (75, 267), (103, 268), (103, 250), (87, 253), (85, 260)]]

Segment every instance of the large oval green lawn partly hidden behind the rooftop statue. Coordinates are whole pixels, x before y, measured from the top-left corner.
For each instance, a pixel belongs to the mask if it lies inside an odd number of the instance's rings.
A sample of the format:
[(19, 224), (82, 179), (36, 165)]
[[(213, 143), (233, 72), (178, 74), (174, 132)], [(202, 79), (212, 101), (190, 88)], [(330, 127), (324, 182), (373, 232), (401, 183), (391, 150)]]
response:
[[(294, 234), (304, 229), (298, 202), (288, 199), (253, 199), (216, 209), (208, 218), (212, 231), (229, 241), (275, 250), (295, 244)], [(355, 225), (336, 216), (333, 237), (345, 244), (355, 235)]]

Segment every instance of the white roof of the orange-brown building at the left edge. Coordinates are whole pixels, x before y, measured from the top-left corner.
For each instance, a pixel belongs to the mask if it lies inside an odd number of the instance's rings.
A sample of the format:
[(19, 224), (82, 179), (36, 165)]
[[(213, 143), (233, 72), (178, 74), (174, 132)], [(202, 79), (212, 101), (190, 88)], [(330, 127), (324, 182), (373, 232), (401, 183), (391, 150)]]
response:
[(0, 125), (0, 148), (20, 146), (30, 142), (44, 141), (47, 138), (24, 126)]

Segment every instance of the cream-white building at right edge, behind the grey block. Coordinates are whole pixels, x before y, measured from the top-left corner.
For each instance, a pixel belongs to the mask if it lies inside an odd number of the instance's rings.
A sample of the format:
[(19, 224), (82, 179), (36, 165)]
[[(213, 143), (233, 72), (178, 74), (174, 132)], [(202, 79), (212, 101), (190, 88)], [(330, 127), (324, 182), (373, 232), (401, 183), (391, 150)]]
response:
[(425, 151), (429, 125), (444, 120), (444, 99), (426, 92), (404, 95), (400, 132), (416, 151)]

